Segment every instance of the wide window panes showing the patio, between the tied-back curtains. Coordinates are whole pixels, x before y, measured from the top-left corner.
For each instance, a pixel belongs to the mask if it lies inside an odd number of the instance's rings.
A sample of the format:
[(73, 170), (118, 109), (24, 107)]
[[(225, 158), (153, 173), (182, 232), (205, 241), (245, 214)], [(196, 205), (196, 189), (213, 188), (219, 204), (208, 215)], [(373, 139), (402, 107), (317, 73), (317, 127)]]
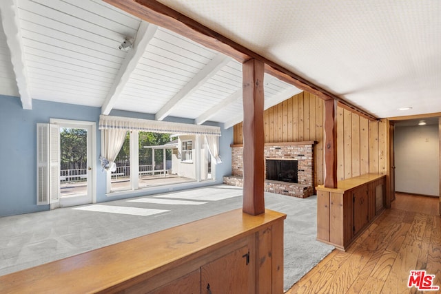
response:
[(202, 138), (127, 132), (107, 193), (215, 179), (212, 156)]

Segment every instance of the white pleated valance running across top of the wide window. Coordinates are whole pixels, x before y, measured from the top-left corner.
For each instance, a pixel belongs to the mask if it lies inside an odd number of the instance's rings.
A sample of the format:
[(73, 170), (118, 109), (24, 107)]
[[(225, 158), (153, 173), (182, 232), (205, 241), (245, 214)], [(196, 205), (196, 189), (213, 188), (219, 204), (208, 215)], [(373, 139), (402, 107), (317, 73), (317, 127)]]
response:
[(99, 116), (99, 129), (125, 129), (126, 131), (152, 133), (220, 136), (220, 127), (105, 115)]

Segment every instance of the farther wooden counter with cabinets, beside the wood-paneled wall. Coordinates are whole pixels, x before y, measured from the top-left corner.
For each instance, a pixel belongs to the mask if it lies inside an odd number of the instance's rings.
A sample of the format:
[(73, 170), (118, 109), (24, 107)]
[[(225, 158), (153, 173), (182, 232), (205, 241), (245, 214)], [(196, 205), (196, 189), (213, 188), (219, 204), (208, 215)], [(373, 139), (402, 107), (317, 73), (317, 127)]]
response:
[(365, 174), (317, 189), (317, 240), (345, 250), (384, 208), (385, 178)]

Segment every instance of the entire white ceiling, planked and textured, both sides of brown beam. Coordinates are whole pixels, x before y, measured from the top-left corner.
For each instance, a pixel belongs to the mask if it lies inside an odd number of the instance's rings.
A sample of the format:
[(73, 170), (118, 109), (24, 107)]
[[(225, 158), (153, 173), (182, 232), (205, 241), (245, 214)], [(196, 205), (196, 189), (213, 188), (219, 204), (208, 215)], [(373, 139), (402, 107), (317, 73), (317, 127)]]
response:
[[(378, 118), (441, 112), (438, 0), (159, 2)], [(225, 127), (243, 118), (240, 63), (185, 36), (100, 0), (0, 10), (0, 94), (24, 109), (38, 99)], [(298, 92), (265, 74), (265, 108)]]

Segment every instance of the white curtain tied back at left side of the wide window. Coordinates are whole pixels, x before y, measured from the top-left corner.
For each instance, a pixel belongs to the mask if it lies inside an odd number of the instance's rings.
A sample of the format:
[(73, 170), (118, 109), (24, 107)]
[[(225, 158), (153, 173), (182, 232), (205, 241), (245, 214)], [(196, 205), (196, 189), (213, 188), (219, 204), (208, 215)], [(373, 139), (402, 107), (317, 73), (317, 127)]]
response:
[(106, 171), (115, 171), (115, 159), (123, 147), (127, 129), (102, 129), (104, 154), (100, 156), (101, 167)]

